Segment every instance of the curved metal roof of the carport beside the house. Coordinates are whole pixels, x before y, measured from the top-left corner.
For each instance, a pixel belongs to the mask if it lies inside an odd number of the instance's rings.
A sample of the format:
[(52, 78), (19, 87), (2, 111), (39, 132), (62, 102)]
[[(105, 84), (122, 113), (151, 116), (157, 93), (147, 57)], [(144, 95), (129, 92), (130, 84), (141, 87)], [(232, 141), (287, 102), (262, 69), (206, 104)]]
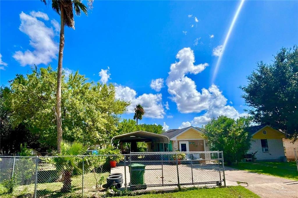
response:
[(157, 133), (151, 133), (147, 131), (135, 131), (131, 133), (125, 133), (121, 135), (117, 135), (112, 137), (111, 143), (113, 143), (114, 140), (119, 140), (122, 142), (125, 141), (138, 141), (138, 142), (143, 142), (143, 141), (151, 141), (153, 143), (169, 143), (170, 139), (169, 137), (162, 135), (162, 134), (157, 134)]

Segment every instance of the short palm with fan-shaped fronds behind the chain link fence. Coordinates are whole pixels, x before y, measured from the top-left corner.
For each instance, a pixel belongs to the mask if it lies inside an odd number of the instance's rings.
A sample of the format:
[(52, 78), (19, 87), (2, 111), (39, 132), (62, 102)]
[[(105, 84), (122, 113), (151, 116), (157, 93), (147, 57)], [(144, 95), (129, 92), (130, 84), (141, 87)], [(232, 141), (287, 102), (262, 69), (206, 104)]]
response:
[[(49, 157), (45, 161), (55, 165), (56, 171), (58, 174), (62, 175), (63, 187), (61, 188), (62, 192), (68, 192), (71, 190), (72, 185), (72, 173), (75, 171), (78, 174), (82, 174), (82, 157), (78, 155), (86, 154), (88, 147), (84, 146), (82, 143), (73, 142), (69, 143), (62, 141), (61, 152), (58, 154), (59, 157)], [(88, 158), (84, 158), (88, 162)], [(84, 170), (89, 170), (88, 163), (84, 163)]]

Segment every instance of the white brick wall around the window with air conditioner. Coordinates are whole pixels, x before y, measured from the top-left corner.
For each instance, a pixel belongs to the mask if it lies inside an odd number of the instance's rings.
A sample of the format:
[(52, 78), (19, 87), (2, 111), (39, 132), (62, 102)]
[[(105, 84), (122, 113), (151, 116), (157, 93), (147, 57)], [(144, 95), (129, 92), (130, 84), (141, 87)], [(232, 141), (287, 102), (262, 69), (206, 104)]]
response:
[(257, 160), (280, 160), (285, 156), (282, 139), (267, 139), (269, 152), (263, 152), (260, 139), (252, 139), (248, 153), (254, 153)]

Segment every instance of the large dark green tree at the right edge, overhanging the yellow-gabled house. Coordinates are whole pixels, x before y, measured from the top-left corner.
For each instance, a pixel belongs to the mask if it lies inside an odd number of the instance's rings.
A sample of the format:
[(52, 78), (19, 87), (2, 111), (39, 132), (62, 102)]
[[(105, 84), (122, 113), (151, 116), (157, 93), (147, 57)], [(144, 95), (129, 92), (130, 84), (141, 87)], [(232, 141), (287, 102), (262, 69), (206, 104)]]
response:
[(247, 77), (248, 85), (240, 86), (242, 97), (250, 107), (254, 122), (268, 124), (298, 137), (298, 48), (282, 48), (274, 62), (257, 64)]

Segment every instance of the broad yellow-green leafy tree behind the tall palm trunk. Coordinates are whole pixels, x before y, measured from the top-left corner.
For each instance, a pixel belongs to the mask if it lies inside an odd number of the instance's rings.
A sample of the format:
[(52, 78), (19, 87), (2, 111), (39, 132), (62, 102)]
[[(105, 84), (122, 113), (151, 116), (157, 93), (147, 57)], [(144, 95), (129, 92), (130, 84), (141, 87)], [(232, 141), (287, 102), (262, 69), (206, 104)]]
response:
[[(51, 67), (16, 75), (5, 96), (14, 126), (23, 124), (38, 136), (42, 148), (53, 149), (56, 141), (55, 93), (57, 72)], [(78, 72), (62, 76), (63, 139), (86, 145), (108, 144), (116, 134), (119, 114), (128, 102), (116, 100), (112, 84), (89, 83)]]

